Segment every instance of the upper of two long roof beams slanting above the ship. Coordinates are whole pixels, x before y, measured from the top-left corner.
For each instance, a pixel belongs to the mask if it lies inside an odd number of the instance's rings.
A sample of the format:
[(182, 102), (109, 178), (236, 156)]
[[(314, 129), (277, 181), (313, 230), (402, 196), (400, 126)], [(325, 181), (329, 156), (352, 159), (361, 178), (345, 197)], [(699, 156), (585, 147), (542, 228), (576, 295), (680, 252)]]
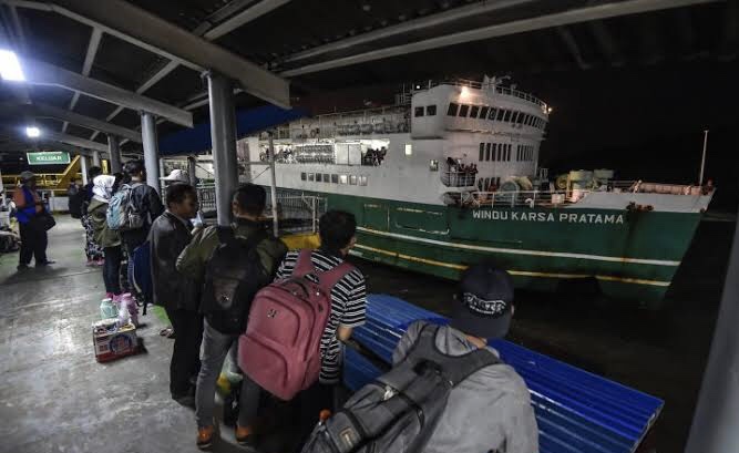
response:
[(525, 3), (532, 3), (536, 0), (497, 0), (478, 2), (460, 8), (439, 12), (437, 14), (425, 16), (422, 18), (409, 20), (396, 25), (384, 27), (378, 30), (361, 33), (356, 37), (347, 38), (340, 41), (330, 42), (325, 45), (319, 45), (314, 49), (308, 49), (302, 52), (294, 53), (285, 59), (280, 59), (281, 63), (289, 63), (292, 61), (305, 60), (312, 56), (318, 56), (328, 52), (336, 52), (338, 50), (350, 49), (359, 44), (365, 44), (372, 41), (378, 41), (386, 38), (397, 37), (431, 27), (443, 25), (449, 22), (466, 19), (470, 17), (485, 14), (489, 12), (517, 7)]

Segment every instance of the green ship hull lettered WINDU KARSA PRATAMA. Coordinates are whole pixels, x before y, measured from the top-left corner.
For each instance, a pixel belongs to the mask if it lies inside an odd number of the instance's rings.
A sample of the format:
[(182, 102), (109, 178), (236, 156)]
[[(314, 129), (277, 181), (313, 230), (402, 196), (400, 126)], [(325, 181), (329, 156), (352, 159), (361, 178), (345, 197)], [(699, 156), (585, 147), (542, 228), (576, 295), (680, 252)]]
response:
[(699, 213), (594, 208), (458, 208), (319, 193), (357, 217), (352, 255), (458, 279), (489, 260), (519, 288), (557, 290), (597, 281), (610, 298), (658, 302), (695, 231)]

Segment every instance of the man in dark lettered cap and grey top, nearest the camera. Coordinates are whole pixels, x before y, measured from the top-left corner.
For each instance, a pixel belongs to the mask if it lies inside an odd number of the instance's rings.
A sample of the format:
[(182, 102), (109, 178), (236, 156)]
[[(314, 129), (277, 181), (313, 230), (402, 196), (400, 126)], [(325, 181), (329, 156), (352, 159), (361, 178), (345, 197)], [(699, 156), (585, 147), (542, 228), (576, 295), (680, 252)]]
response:
[[(505, 270), (482, 264), (470, 267), (460, 284), (451, 322), (439, 330), (437, 348), (462, 356), (503, 338), (513, 316), (513, 282)], [(412, 323), (392, 354), (399, 363), (415, 342), (424, 321)], [(452, 389), (447, 409), (425, 453), (536, 453), (538, 430), (528, 389), (504, 363), (485, 367)]]

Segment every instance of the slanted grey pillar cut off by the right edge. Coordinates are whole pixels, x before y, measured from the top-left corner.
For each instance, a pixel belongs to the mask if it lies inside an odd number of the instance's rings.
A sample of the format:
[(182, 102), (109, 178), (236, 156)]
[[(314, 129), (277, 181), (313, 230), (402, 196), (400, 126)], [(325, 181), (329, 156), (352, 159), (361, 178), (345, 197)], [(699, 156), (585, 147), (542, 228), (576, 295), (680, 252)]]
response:
[(739, 445), (739, 224), (686, 453), (736, 452)]

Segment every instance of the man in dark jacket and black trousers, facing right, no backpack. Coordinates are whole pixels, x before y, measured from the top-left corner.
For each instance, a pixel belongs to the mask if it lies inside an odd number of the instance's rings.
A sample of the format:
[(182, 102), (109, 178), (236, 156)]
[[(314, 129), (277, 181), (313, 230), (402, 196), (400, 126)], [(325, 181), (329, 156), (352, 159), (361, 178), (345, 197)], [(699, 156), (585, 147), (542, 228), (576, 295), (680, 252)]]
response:
[(176, 264), (192, 239), (189, 219), (197, 213), (197, 193), (189, 184), (174, 184), (167, 189), (166, 204), (167, 210), (154, 220), (148, 234), (154, 303), (164, 307), (176, 332), (170, 364), (172, 399), (194, 406), (192, 381), (201, 369), (203, 317), (197, 311), (197, 288), (177, 271)]

